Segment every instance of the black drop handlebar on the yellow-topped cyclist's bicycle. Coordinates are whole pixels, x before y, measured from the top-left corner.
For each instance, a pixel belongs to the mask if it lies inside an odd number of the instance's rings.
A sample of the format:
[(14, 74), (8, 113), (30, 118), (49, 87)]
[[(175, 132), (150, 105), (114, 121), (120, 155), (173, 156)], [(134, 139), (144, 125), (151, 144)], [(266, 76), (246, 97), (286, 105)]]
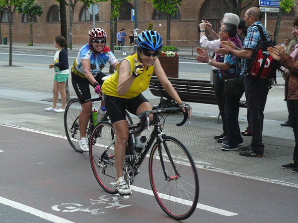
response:
[[(183, 112), (183, 120), (180, 123), (177, 123), (177, 126), (181, 126), (183, 125), (186, 120), (188, 119), (188, 123), (190, 123), (189, 121), (189, 110), (191, 109), (191, 107), (189, 105), (185, 106), (185, 112)], [(149, 129), (149, 115), (150, 114), (159, 114), (159, 113), (164, 113), (165, 111), (182, 111), (182, 109), (177, 108), (177, 107), (172, 107), (172, 108), (164, 108), (164, 109), (156, 109), (156, 110), (152, 110), (152, 111), (143, 111), (139, 114), (139, 118), (141, 119), (141, 123), (142, 126), (140, 127), (140, 129), (135, 131), (135, 134), (138, 134), (140, 132), (143, 131), (143, 129), (145, 128), (145, 125), (147, 124), (147, 129)]]

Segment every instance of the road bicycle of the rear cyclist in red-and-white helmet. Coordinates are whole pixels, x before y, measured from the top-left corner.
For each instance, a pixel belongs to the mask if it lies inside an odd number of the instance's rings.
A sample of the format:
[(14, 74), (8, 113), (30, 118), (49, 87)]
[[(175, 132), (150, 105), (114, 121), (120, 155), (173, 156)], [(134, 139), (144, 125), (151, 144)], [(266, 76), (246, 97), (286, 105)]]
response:
[[(90, 99), (92, 103), (96, 101), (101, 101), (101, 97)], [(81, 104), (78, 99), (72, 99), (66, 106), (65, 113), (64, 113), (64, 129), (66, 133), (66, 137), (71, 144), (72, 148), (79, 153), (83, 153), (83, 151), (80, 149), (78, 145), (78, 139), (80, 137), (80, 131), (79, 131), (79, 125), (78, 125), (78, 117), (81, 112)], [(130, 116), (130, 114), (126, 111), (126, 119), (128, 120), (128, 123), (133, 124), (133, 120)], [(106, 112), (104, 116), (102, 117), (103, 121), (109, 121), (109, 114)], [(92, 130), (94, 128), (94, 122), (92, 117), (92, 112), (90, 113), (89, 122), (87, 125), (86, 135), (89, 140), (90, 144), (90, 136), (92, 133)], [(92, 141), (92, 143), (95, 143), (95, 141)]]

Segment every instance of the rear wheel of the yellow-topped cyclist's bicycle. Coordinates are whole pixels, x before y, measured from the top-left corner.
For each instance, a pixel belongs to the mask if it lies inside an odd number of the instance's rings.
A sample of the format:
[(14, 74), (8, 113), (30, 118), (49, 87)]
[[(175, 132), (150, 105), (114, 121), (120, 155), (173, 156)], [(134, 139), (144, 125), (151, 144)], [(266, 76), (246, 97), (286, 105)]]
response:
[(94, 176), (99, 185), (108, 193), (116, 194), (114, 146), (116, 134), (110, 122), (99, 122), (92, 131), (89, 143), (89, 158)]

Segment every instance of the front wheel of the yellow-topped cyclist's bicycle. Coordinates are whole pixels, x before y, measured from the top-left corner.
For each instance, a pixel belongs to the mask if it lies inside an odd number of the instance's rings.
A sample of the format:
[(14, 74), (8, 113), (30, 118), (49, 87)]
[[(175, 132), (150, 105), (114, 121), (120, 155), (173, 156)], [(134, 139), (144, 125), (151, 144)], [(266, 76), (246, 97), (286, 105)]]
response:
[[(164, 136), (155, 142), (149, 157), (149, 178), (161, 209), (171, 218), (184, 220), (195, 211), (199, 178), (194, 161), (177, 139)], [(160, 145), (160, 146), (159, 146)]]

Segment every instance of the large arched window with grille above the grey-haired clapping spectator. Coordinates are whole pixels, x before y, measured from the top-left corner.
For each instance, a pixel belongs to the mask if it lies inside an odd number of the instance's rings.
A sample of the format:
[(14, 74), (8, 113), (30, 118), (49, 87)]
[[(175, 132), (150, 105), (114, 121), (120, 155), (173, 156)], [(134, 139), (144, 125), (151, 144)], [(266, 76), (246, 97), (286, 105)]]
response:
[[(227, 9), (224, 7), (222, 1), (206, 0), (201, 7), (198, 20), (209, 21), (212, 25), (212, 29), (218, 32), (221, 28), (221, 20), (224, 17), (225, 12), (227, 12)], [(210, 40), (213, 39), (209, 32), (206, 36)]]

